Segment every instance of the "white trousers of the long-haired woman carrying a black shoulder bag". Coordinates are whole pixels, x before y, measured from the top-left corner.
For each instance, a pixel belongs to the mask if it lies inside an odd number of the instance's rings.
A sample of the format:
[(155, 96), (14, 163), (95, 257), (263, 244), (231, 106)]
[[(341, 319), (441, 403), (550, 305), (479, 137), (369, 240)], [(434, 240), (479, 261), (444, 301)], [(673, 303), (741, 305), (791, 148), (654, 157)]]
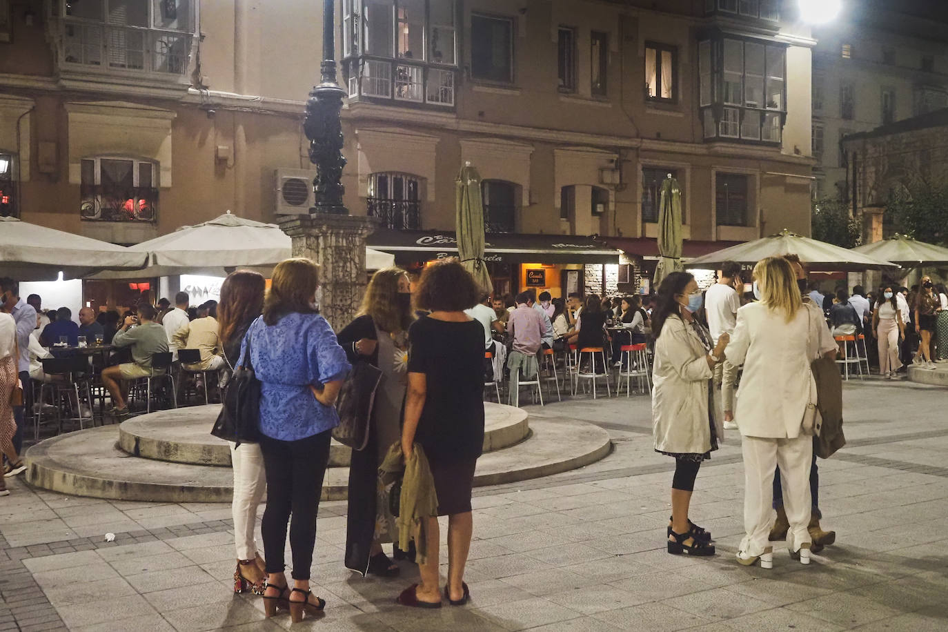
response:
[(234, 471), (234, 497), (230, 505), (234, 518), (234, 544), (237, 559), (252, 560), (257, 554), (253, 532), (257, 526), (257, 507), (264, 499), (266, 476), (264, 454), (259, 443), (230, 443), (230, 464)]

